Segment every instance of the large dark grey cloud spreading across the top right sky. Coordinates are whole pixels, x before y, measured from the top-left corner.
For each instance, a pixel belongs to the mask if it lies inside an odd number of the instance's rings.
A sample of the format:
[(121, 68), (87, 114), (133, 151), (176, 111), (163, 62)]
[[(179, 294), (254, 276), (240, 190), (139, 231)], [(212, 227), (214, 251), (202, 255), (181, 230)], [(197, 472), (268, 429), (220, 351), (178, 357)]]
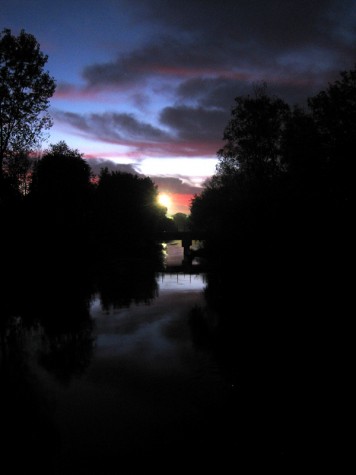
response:
[[(157, 33), (113, 62), (87, 67), (84, 78), (90, 86), (133, 84), (149, 77), (240, 76), (244, 81), (280, 80), (283, 87), (295, 76), (302, 80), (313, 72), (318, 81), (317, 75), (329, 79), (330, 73), (353, 66), (351, 1), (153, 0), (133, 5), (137, 14), (141, 11), (140, 21), (155, 25)], [(304, 83), (305, 91), (310, 85), (311, 80)]]

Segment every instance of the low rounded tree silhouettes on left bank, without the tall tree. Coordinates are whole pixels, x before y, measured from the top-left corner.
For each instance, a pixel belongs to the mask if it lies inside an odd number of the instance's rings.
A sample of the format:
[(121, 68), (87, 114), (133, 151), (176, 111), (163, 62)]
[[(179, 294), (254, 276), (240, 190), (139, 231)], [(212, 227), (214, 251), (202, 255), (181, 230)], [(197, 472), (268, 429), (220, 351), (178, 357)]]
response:
[(48, 261), (68, 254), (91, 264), (115, 255), (144, 256), (156, 245), (156, 233), (171, 225), (150, 178), (107, 168), (95, 177), (65, 142), (51, 145), (30, 173), (25, 194), (22, 176), (2, 178), (4, 245), (14, 254), (23, 247), (20, 240)]

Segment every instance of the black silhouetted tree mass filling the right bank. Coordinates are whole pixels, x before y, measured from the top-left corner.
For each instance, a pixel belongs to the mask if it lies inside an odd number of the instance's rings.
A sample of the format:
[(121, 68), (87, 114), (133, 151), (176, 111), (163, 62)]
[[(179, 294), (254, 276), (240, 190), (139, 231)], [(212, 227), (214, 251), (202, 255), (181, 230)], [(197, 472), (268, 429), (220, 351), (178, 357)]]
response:
[(278, 473), (351, 447), (355, 131), (356, 70), (306, 109), (257, 88), (191, 206), (211, 266), (195, 326), (231, 378), (235, 447)]

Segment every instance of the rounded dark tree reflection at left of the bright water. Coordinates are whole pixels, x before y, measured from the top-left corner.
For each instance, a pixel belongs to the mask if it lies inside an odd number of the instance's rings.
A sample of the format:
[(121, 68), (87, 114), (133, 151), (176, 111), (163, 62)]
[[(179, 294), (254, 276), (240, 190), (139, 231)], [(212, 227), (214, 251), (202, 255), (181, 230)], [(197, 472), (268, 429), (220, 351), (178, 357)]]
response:
[(47, 269), (36, 282), (29, 294), (27, 314), (44, 331), (38, 355), (40, 364), (62, 382), (83, 373), (93, 350), (89, 311), (92, 287), (86, 268), (72, 264), (68, 273), (65, 264), (69, 262), (57, 264), (52, 271)]

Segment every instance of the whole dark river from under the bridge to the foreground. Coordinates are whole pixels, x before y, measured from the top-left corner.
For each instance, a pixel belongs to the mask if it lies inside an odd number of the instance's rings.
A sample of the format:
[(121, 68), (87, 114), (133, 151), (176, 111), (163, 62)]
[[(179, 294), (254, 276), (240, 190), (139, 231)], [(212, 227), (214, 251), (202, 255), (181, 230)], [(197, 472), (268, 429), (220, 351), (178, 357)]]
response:
[(2, 474), (285, 474), (311, 458), (318, 466), (332, 440), (318, 388), (325, 353), (311, 331), (319, 326), (284, 300), (255, 295), (236, 268), (179, 267), (177, 242), (164, 253), (160, 270), (120, 255), (94, 286), (88, 267), (59, 272), (68, 262), (42, 263), (48, 272), (8, 285)]

